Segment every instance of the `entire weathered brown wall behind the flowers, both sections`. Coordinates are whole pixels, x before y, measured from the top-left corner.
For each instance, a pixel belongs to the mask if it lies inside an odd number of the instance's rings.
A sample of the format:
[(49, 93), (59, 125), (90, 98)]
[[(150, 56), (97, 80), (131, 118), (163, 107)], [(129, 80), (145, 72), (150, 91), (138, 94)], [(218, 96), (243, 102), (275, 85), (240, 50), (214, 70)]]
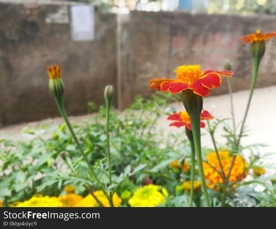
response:
[[(175, 77), (180, 65), (222, 70), (230, 61), (233, 91), (250, 88), (251, 45), (239, 37), (275, 31), (275, 16), (187, 12), (104, 13), (95, 8), (95, 39), (76, 42), (68, 22), (49, 15), (70, 5), (0, 3), (0, 125), (59, 116), (48, 89), (47, 65), (61, 64), (69, 115), (85, 114), (88, 101), (103, 104), (107, 84), (113, 105), (124, 109), (135, 95), (149, 96), (151, 78)], [(67, 11), (66, 11), (67, 10)], [(266, 42), (257, 87), (276, 84), (276, 39)], [(227, 81), (210, 96), (228, 93)]]

